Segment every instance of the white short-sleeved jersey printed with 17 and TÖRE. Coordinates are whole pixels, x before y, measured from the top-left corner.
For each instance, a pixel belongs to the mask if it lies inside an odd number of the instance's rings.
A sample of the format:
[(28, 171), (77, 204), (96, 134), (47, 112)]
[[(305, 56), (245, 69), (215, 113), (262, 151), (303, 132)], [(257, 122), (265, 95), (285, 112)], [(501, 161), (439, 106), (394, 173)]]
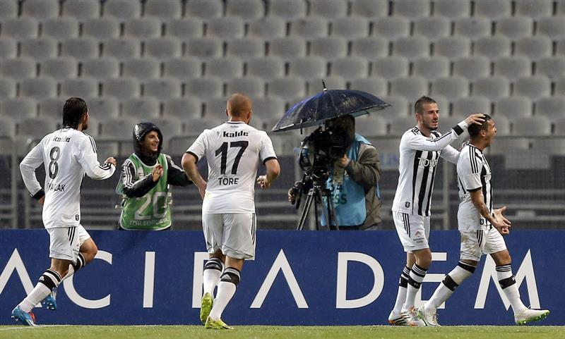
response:
[(276, 159), (266, 132), (242, 121), (228, 121), (204, 130), (186, 151), (196, 159), (206, 156), (208, 184), (202, 213), (255, 211), (255, 182), (259, 161)]

